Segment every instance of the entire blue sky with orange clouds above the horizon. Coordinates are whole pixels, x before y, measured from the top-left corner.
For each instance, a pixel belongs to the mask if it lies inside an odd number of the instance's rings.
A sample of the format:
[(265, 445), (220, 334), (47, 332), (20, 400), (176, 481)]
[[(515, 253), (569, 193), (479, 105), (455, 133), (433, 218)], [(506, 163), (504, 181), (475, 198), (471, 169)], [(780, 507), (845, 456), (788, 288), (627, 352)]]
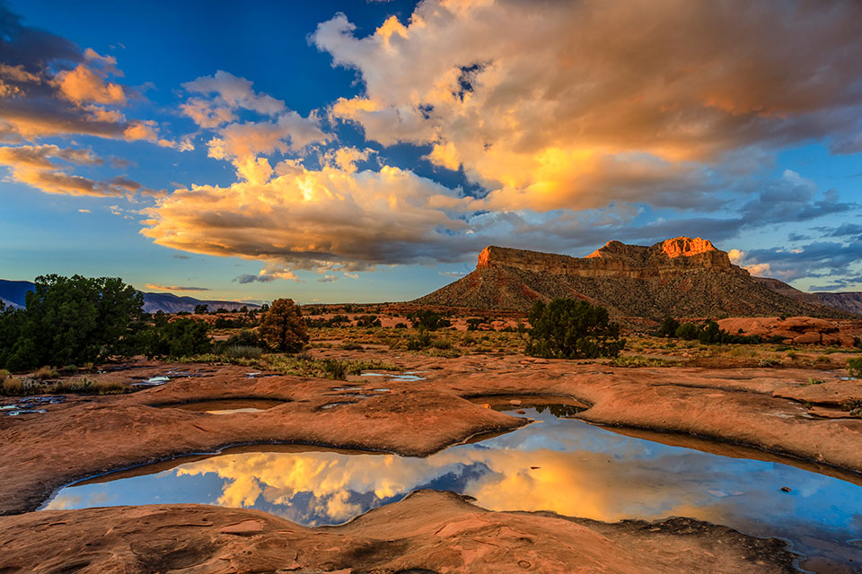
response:
[(862, 4), (0, 0), (0, 278), (396, 301), (682, 235), (862, 291)]

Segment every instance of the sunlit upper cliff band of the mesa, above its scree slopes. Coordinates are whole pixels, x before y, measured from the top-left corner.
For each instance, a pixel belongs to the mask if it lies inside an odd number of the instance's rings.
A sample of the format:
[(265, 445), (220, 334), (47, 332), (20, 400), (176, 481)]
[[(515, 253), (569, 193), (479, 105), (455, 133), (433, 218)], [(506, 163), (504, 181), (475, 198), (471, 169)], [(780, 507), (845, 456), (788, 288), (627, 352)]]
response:
[(514, 267), (533, 273), (583, 277), (647, 279), (686, 271), (745, 273), (724, 251), (706, 239), (679, 237), (651, 247), (608, 241), (587, 257), (568, 257), (523, 249), (489, 246), (479, 254), (477, 269)]

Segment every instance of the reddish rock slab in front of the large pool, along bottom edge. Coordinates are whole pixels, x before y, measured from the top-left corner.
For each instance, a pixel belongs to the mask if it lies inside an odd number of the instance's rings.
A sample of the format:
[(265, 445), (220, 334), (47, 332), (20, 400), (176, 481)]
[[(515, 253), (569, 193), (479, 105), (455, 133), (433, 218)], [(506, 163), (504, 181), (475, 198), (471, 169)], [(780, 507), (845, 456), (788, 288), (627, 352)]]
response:
[(438, 491), (417, 491), (346, 525), (321, 528), (198, 505), (51, 510), (0, 518), (0, 545), (7, 574), (795, 571), (782, 542), (725, 526), (491, 512)]

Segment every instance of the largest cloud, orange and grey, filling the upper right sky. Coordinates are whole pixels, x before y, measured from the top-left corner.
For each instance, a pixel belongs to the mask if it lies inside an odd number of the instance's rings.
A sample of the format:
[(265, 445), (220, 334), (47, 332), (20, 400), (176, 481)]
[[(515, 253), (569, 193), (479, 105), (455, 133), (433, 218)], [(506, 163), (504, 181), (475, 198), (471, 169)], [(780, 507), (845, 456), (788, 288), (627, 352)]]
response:
[(827, 4), (426, 1), (366, 37), (339, 13), (312, 42), (365, 86), (332, 117), (432, 145), (488, 208), (673, 204), (739, 150), (862, 151), (862, 5)]

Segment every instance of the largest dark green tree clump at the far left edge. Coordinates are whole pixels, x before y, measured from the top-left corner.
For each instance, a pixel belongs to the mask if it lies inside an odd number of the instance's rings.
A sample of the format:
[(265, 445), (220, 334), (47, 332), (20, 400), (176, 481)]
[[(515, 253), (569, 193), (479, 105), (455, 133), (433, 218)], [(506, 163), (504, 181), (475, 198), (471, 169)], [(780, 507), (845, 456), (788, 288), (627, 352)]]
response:
[(143, 304), (143, 295), (119, 278), (37, 277), (26, 309), (0, 314), (0, 365), (100, 361), (119, 351)]

